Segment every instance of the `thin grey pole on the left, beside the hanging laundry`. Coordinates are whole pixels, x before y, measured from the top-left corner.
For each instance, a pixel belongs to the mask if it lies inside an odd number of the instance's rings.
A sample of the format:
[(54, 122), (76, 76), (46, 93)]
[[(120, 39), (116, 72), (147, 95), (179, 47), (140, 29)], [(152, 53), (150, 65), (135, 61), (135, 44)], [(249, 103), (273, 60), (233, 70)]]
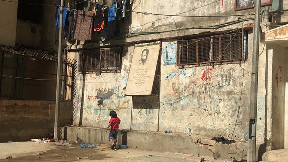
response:
[(63, 0), (60, 5), (60, 28), (59, 28), (59, 46), (58, 46), (58, 67), (57, 67), (57, 87), (56, 87), (56, 106), (55, 106), (55, 125), (54, 125), (54, 139), (59, 139), (59, 107), (61, 94), (61, 79), (62, 79), (62, 28), (63, 28)]

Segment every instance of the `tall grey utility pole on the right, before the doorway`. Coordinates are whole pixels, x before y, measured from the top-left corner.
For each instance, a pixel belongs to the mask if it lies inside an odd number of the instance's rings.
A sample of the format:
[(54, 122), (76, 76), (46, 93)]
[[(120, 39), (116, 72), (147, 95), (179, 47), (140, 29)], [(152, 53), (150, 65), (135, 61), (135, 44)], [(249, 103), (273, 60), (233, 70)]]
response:
[(250, 121), (248, 162), (255, 162), (256, 158), (256, 122), (257, 122), (257, 94), (258, 94), (258, 64), (259, 64), (259, 35), (261, 0), (256, 0), (253, 32), (253, 56), (250, 89)]

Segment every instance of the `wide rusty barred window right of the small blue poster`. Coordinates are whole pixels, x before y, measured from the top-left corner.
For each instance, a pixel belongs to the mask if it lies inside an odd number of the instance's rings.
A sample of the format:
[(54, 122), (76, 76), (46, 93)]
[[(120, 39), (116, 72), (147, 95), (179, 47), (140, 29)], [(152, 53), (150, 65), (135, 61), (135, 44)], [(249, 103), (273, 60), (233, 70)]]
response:
[(177, 41), (177, 65), (200, 65), (245, 61), (247, 33), (238, 32)]

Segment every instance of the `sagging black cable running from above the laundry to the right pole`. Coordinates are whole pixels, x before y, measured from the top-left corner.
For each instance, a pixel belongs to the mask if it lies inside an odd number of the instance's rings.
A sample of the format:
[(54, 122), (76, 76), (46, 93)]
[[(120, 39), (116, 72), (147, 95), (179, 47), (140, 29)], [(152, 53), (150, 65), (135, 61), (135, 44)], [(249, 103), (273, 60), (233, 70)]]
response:
[(159, 14), (159, 13), (138, 12), (138, 11), (132, 11), (132, 10), (127, 10), (127, 9), (122, 9), (122, 8), (116, 8), (116, 7), (112, 7), (112, 6), (108, 6), (108, 5), (104, 5), (104, 4), (99, 4), (99, 3), (92, 2), (92, 1), (89, 1), (89, 0), (83, 0), (83, 1), (94, 3), (94, 4), (98, 4), (98, 5), (105, 6), (105, 7), (115, 8), (115, 9), (122, 10), (122, 11), (140, 13), (140, 14), (143, 14), (143, 15), (158, 15), (158, 16), (170, 16), (170, 17), (236, 17), (236, 16), (247, 16), (247, 15), (250, 15), (250, 14), (243, 14), (243, 15), (218, 15), (218, 16), (217, 15), (210, 15), (210, 16), (193, 15), (193, 16), (191, 16), (191, 15), (178, 15), (178, 14), (169, 15), (169, 14)]

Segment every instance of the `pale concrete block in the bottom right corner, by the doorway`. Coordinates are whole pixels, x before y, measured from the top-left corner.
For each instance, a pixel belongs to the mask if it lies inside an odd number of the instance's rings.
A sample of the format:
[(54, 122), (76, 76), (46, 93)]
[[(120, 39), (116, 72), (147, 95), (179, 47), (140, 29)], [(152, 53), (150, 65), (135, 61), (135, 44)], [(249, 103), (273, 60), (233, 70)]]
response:
[(265, 162), (288, 162), (288, 149), (271, 150), (263, 155)]

